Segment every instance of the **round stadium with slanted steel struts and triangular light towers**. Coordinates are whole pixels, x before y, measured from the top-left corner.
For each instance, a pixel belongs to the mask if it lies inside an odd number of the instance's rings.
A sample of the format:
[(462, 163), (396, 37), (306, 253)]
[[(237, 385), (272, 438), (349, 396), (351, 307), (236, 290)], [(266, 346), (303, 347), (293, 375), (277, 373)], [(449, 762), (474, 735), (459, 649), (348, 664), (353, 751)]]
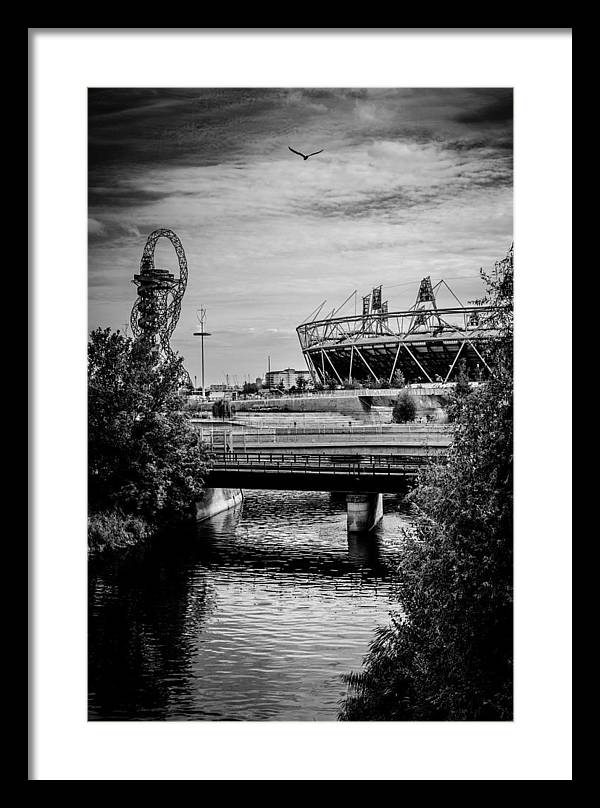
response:
[[(442, 288), (456, 305), (438, 307)], [(414, 304), (402, 311), (388, 311), (378, 286), (362, 298), (360, 315), (335, 317), (349, 299), (326, 319), (316, 319), (321, 304), (296, 329), (316, 384), (391, 385), (399, 373), (408, 384), (452, 382), (461, 368), (471, 379), (489, 375), (486, 344), (497, 336), (497, 308), (486, 301), (465, 306), (444, 280), (433, 285), (430, 277), (421, 281)]]

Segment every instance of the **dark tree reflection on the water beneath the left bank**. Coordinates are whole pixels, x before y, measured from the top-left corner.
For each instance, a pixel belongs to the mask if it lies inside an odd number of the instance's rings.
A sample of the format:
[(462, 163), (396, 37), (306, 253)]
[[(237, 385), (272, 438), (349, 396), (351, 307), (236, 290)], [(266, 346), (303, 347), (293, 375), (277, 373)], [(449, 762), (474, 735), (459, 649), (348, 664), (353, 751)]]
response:
[(176, 695), (193, 701), (195, 637), (214, 608), (201, 569), (190, 576), (177, 554), (136, 554), (90, 570), (90, 718), (164, 718)]

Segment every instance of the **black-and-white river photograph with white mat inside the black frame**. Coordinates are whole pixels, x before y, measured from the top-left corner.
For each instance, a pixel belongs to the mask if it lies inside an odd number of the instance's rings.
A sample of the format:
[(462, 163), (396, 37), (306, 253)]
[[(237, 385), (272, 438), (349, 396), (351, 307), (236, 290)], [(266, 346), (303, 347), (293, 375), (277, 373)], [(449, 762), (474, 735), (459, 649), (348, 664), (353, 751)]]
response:
[(29, 30), (30, 779), (571, 779), (570, 29)]

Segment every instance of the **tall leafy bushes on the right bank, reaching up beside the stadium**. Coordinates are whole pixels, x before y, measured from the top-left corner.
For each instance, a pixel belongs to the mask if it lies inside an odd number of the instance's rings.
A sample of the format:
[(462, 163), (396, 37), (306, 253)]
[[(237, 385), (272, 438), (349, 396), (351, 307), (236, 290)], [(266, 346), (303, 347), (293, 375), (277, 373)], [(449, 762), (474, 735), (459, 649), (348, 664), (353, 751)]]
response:
[(343, 720), (512, 719), (512, 248), (483, 278), (498, 305), (492, 373), (454, 395), (447, 463), (410, 495), (397, 608), (347, 677)]

